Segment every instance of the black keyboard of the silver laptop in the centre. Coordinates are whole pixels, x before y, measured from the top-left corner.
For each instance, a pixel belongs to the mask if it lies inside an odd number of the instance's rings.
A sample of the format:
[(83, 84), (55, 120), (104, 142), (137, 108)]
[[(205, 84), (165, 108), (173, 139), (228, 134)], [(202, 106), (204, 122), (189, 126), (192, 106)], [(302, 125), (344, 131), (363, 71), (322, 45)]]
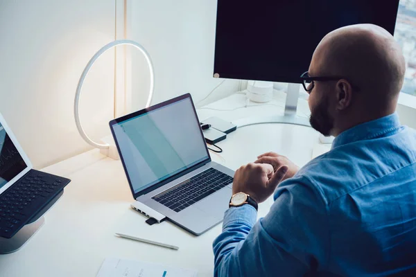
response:
[(175, 212), (179, 212), (231, 184), (232, 181), (233, 178), (229, 175), (209, 168), (209, 170), (189, 179), (187, 183), (177, 186), (173, 190), (168, 190), (163, 195), (152, 197), (152, 199)]

